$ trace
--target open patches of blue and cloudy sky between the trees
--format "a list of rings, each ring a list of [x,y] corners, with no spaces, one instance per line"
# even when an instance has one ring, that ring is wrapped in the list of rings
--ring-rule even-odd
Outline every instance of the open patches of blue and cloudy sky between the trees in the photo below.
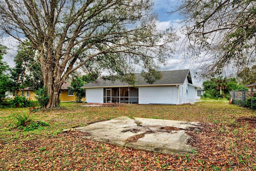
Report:
[[[153,12],[158,14],[158,22],[157,26],[160,29],[165,29],[170,26],[173,28],[178,28],[180,25],[178,22],[182,19],[182,16],[180,16],[178,13],[170,14],[170,12],[173,7],[177,6],[179,3],[181,3],[180,0],[153,0],[154,1],[154,8]],[[181,47],[182,38],[184,36],[178,35],[181,37],[181,39],[176,42],[176,50],[178,50]],[[8,62],[8,65],[11,67],[14,67],[14,56],[16,56],[17,51],[17,42],[9,39],[6,40],[2,38],[1,44],[4,44],[10,50],[8,51],[8,54],[4,56],[4,60]],[[195,65],[195,66],[194,66]],[[191,75],[192,75],[192,82],[194,85],[202,87],[202,81],[194,78],[196,69],[198,68],[197,64],[190,64],[188,61],[183,60],[180,54],[176,52],[174,54],[173,58],[170,58],[166,64],[166,66],[160,66],[160,70],[182,70],[182,69],[190,69]]]

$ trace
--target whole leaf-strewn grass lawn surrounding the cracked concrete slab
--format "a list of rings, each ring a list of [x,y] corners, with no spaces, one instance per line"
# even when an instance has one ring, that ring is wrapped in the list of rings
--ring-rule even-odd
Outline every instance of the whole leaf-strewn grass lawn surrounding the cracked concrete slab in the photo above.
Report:
[[[194,105],[124,105],[61,108],[29,112],[0,109],[0,170],[256,170],[256,113],[224,101]],[[17,116],[29,115],[48,126],[15,127]],[[62,129],[119,116],[212,123],[193,132],[197,151],[164,155],[116,147]]]

